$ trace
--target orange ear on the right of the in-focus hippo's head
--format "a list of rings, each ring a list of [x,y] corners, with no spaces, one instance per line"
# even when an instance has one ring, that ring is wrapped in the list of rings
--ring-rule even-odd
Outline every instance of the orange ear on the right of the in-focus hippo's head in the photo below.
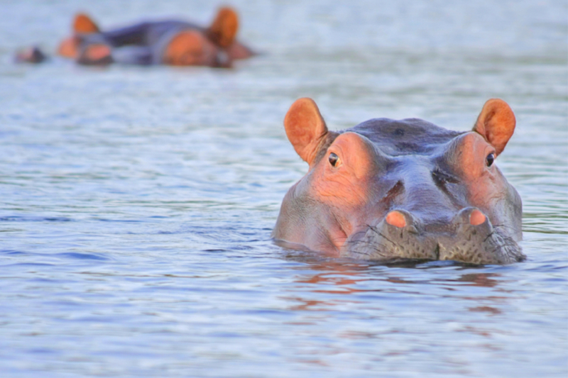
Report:
[[[515,114],[510,106],[501,99],[490,99],[481,109],[474,126],[474,131],[483,135],[497,155],[501,154],[515,131]]]

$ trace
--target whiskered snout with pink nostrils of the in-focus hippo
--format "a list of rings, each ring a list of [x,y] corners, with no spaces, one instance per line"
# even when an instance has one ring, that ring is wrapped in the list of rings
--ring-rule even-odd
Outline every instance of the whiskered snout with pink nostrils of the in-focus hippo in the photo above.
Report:
[[[447,223],[420,221],[402,209],[387,213],[376,226],[352,235],[344,254],[369,260],[455,260],[508,264],[524,260],[520,246],[491,225],[475,207],[461,209]]]

